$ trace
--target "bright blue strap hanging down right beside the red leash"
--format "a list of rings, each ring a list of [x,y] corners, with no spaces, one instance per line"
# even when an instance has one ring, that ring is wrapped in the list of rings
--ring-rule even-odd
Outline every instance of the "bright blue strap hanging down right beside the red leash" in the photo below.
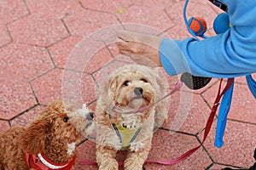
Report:
[[[218,148],[222,147],[224,144],[223,137],[224,131],[227,123],[227,116],[230,111],[230,105],[232,102],[232,94],[234,88],[234,81],[232,82],[230,88],[225,92],[223,99],[221,100],[221,104],[218,111],[218,122],[215,134],[215,146]]]

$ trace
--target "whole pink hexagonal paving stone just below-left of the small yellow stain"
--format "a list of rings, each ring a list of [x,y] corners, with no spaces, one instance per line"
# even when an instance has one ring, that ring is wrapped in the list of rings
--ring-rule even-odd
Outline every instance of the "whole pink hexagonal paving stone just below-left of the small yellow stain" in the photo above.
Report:
[[[73,36],[88,36],[104,27],[119,24],[113,14],[84,10],[64,19]]]

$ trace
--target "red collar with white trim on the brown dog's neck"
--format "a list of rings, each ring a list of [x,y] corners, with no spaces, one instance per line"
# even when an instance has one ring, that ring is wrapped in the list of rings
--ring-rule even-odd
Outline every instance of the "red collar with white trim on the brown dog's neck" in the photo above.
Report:
[[[73,167],[76,156],[74,155],[72,160],[66,163],[55,163],[49,161],[44,154],[29,155],[28,153],[25,153],[25,160],[27,167],[35,168],[37,170],[70,170]]]

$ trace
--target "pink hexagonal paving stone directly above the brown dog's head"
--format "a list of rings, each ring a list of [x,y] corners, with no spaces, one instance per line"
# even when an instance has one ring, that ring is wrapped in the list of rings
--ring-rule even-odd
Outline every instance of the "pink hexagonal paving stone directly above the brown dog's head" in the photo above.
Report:
[[[55,69],[32,81],[32,88],[42,105],[47,105],[55,99],[63,99],[80,107],[82,103],[76,102],[81,99],[84,99],[83,103],[96,99],[92,78],[76,71]]]

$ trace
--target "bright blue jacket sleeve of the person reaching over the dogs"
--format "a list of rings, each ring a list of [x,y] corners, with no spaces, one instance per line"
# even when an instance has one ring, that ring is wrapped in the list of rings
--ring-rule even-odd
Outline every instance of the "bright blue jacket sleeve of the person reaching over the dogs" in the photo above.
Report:
[[[256,72],[256,1],[223,0],[232,27],[205,40],[164,38],[160,60],[173,76],[190,72],[200,77],[239,77]]]

